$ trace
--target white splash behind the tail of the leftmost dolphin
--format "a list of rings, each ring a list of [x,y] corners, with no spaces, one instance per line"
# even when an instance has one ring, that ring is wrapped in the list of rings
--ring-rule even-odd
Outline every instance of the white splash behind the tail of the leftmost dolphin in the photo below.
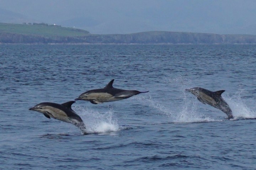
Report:
[[[106,133],[119,130],[117,120],[112,119],[111,110],[105,113],[99,113],[82,106],[75,106],[74,110],[84,121],[86,133]]]

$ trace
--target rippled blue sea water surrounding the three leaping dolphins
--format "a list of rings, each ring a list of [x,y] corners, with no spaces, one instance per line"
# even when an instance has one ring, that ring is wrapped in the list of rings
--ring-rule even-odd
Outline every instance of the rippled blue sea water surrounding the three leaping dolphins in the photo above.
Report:
[[[0,45],[0,169],[256,169],[256,45]],[[28,108],[104,87],[148,91],[74,111],[90,135]],[[191,87],[226,90],[233,111]]]

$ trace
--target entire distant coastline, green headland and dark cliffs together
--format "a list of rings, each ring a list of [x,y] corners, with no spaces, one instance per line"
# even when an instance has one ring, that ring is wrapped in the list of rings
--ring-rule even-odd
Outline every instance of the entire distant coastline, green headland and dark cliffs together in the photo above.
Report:
[[[152,31],[133,34],[90,34],[86,30],[45,23],[0,23],[0,43],[89,44],[256,44],[256,35],[220,35]]]

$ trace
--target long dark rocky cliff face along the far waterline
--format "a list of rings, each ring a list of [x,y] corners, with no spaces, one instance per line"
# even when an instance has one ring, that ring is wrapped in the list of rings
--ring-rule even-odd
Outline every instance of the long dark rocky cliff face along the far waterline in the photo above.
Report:
[[[185,32],[142,32],[133,34],[88,34],[44,36],[0,32],[0,43],[49,44],[256,44],[256,35],[220,35]]]

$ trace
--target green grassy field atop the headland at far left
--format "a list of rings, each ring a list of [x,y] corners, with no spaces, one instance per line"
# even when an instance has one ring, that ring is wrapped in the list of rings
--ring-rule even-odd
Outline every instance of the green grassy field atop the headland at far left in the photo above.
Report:
[[[0,23],[0,32],[41,35],[41,36],[86,36],[88,31],[76,28],[68,28],[47,24],[9,24]]]

